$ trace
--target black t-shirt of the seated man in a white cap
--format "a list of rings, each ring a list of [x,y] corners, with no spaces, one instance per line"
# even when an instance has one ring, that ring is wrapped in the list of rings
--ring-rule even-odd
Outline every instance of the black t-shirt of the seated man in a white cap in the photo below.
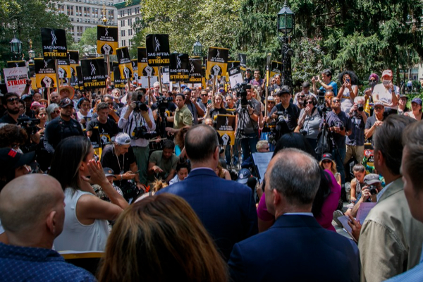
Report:
[[[116,157],[114,145],[107,145],[102,152],[102,166],[113,169],[114,174],[129,171],[130,164],[135,162],[135,155],[132,147],[129,147],[128,153]]]

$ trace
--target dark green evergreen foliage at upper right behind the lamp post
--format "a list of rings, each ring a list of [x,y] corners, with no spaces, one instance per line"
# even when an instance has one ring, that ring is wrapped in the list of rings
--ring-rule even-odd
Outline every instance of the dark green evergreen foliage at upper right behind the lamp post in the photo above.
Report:
[[[323,54],[321,68],[350,69],[362,79],[391,68],[397,72],[397,83],[399,68],[422,61],[421,0],[290,0],[287,4],[295,13],[292,47],[299,56],[293,59],[293,72],[302,72],[293,73],[294,80],[316,75],[306,74],[305,60]],[[276,14],[282,6],[282,1],[242,1],[233,51],[247,53],[250,66],[264,66],[267,52],[278,56]],[[304,56],[303,38],[315,40],[319,48]]]

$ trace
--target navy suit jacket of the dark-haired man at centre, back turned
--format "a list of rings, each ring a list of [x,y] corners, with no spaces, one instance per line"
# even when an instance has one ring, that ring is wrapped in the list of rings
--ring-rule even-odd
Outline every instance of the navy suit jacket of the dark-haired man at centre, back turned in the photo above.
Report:
[[[235,243],[258,232],[252,190],[219,178],[211,169],[195,169],[185,180],[156,194],[164,192],[183,197],[191,205],[226,260]]]

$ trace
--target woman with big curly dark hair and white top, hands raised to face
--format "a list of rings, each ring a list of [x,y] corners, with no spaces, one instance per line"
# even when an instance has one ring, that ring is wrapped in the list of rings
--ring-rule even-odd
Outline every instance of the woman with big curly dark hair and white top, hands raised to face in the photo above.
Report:
[[[358,78],[353,71],[343,71],[338,80],[342,84],[337,95],[341,99],[341,111],[348,113],[354,106],[354,99],[358,94]]]

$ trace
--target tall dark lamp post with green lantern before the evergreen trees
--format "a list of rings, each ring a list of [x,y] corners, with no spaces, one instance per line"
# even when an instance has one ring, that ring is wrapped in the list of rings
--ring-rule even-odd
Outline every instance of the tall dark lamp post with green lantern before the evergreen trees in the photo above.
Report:
[[[281,40],[281,55],[282,55],[282,85],[288,85],[291,93],[293,93],[293,76],[291,70],[291,56],[294,56],[293,49],[290,49],[290,40],[292,35],[288,35],[293,32],[295,27],[295,18],[294,13],[291,9],[285,4],[283,8],[278,12],[278,34],[281,32],[279,39]]]

